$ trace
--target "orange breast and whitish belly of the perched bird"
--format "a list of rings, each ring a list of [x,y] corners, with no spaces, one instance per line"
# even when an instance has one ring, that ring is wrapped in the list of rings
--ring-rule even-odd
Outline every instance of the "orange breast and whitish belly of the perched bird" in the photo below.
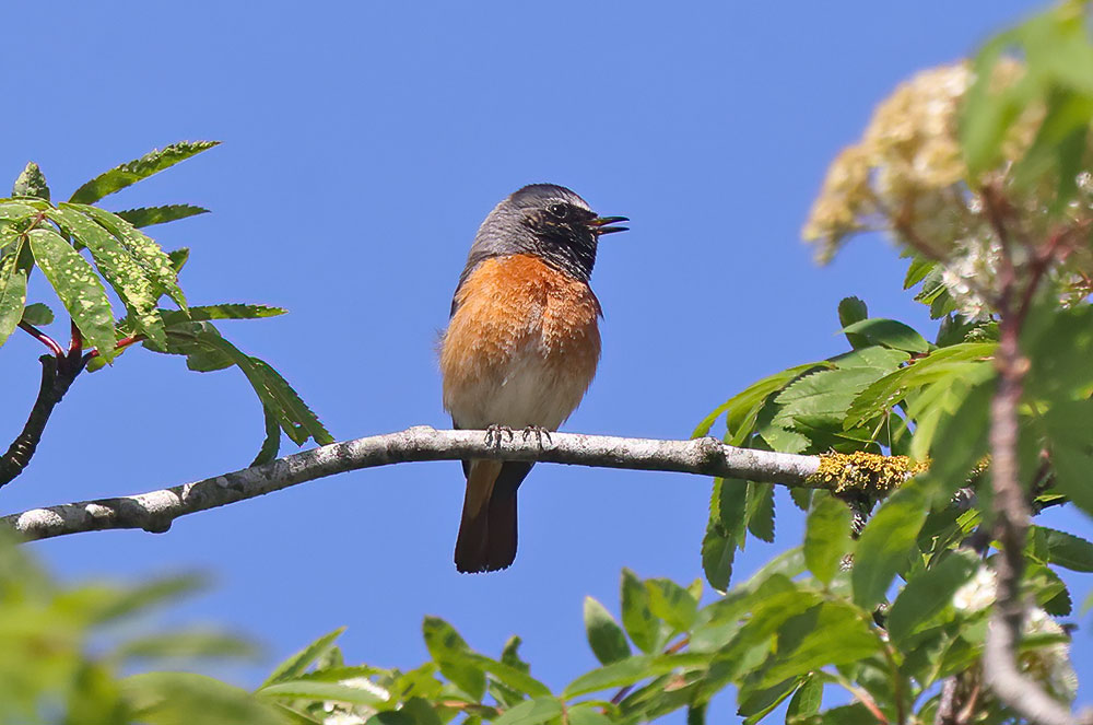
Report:
[[[588,284],[515,255],[480,264],[444,335],[444,407],[460,428],[556,429],[600,356],[600,305]]]

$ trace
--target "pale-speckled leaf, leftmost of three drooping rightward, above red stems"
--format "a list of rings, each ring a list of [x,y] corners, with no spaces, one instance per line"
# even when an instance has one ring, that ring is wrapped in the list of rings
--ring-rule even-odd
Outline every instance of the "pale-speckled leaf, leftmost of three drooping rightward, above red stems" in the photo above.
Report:
[[[31,250],[77,327],[107,362],[114,359],[114,313],[103,283],[75,249],[56,232],[31,230]]]

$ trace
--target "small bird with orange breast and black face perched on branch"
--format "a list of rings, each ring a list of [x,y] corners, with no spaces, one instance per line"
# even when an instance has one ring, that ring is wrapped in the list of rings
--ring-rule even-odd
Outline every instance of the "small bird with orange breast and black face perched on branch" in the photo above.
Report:
[[[439,346],[443,404],[454,428],[549,437],[573,413],[600,358],[600,302],[589,287],[599,238],[626,231],[574,191],[525,186],[474,236]],[[459,572],[516,559],[516,492],[533,463],[463,460]]]

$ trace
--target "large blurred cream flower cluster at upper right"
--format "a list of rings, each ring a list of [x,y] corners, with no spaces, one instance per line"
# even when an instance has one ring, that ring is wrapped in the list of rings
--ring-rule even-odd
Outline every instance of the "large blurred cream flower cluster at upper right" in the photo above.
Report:
[[[990,85],[1001,91],[1016,82],[1024,67],[1012,59],[992,69]],[[1025,262],[1060,227],[1071,226],[1066,264],[1057,264],[1048,280],[1063,304],[1093,291],[1093,173],[1077,174],[1077,197],[1063,213],[1055,208],[1058,185],[1049,174],[1030,184],[1015,183],[1013,169],[1031,148],[1044,119],[1044,105],[1026,106],[1001,143],[995,168],[971,178],[964,162],[960,126],[962,103],[975,81],[964,62],[916,74],[881,102],[861,139],[832,162],[804,225],[816,257],[827,261],[851,235],[886,231],[895,241],[929,259],[941,261],[943,283],[960,312],[984,318],[1000,297],[998,225],[1006,227],[1008,252],[1022,277]],[[1093,167],[1093,147],[1081,160]],[[998,195],[988,209],[980,189]],[[1081,238],[1079,238],[1081,237]]]

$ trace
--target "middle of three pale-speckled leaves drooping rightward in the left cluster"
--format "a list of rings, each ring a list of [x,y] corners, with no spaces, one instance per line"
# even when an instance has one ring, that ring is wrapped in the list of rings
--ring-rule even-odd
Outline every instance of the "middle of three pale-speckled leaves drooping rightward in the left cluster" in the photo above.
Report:
[[[148,336],[154,344],[166,347],[167,337],[155,308],[160,297],[155,280],[145,273],[129,250],[102,226],[71,208],[62,206],[47,210],[46,217],[87,247],[99,273],[129,309],[137,331]]]

